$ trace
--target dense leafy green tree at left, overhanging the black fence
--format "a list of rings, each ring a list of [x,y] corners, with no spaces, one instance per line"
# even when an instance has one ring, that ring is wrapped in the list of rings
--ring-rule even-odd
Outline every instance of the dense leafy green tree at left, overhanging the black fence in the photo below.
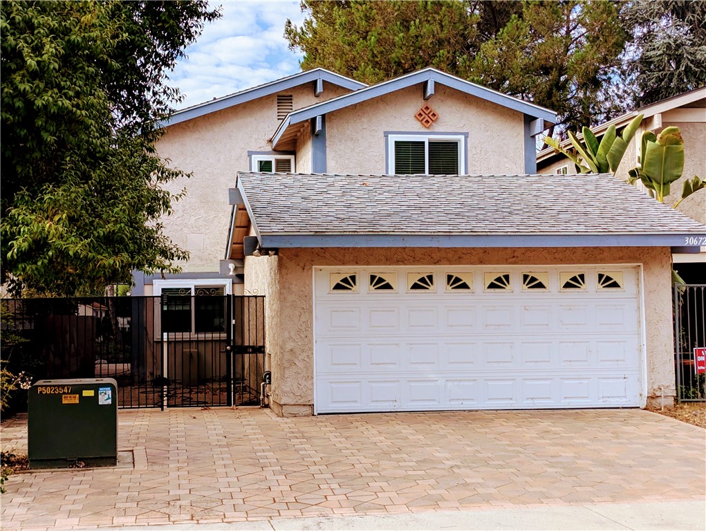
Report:
[[[75,294],[178,270],[158,222],[184,175],[157,156],[167,73],[218,15],[198,1],[0,4],[2,280]]]

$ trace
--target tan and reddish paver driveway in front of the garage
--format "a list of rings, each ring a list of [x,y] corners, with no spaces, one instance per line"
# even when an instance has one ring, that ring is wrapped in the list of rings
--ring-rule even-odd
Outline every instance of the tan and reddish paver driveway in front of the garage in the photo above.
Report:
[[[128,469],[13,475],[4,529],[702,499],[705,434],[642,410],[119,412]],[[4,449],[23,422],[3,424]],[[12,438],[16,438],[12,441]]]

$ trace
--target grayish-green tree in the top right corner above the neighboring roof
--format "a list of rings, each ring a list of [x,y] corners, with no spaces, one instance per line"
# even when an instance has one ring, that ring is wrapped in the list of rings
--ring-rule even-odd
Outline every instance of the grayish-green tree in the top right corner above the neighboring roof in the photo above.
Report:
[[[706,85],[706,1],[633,0],[622,17],[633,33],[635,100],[648,105]]]

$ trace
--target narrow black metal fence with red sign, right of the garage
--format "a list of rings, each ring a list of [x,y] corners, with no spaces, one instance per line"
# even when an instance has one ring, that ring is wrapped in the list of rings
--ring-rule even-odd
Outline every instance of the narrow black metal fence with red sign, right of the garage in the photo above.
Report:
[[[676,394],[680,402],[706,402],[706,284],[674,285]]]

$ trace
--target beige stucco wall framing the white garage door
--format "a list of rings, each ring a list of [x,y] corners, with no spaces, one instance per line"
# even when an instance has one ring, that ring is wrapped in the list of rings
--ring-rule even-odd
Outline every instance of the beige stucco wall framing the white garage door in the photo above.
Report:
[[[276,332],[268,326],[268,334],[276,334],[268,343],[268,352],[272,354],[273,410],[277,414],[313,412],[313,266],[642,263],[648,402],[661,398],[663,391],[668,402],[674,400],[669,248],[280,249],[277,260],[277,271],[270,269],[269,274],[275,274],[282,290],[274,306],[268,306],[275,312],[271,321],[279,323]]]

